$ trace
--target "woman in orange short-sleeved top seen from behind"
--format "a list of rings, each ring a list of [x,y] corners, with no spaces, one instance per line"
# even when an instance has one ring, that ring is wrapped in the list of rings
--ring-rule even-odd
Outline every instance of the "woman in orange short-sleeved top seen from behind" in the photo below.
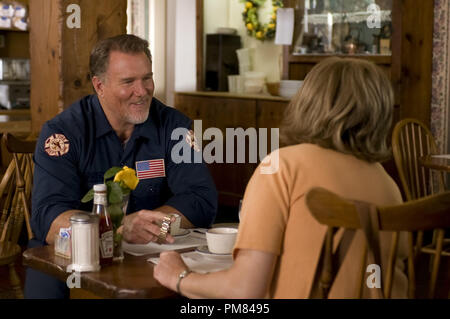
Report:
[[[372,63],[329,58],[315,66],[292,99],[282,127],[291,145],[279,149],[279,170],[251,178],[233,250],[225,271],[188,273],[176,252],[161,253],[154,277],[189,298],[308,298],[326,227],[310,214],[304,195],[320,186],[341,196],[393,205],[400,191],[380,161],[390,156],[393,92]],[[338,234],[339,236],[339,234]],[[383,234],[387,254],[390,234]],[[330,296],[355,297],[355,273],[363,234],[354,236]],[[404,255],[400,247],[399,258]],[[387,258],[387,256],[382,256]],[[407,280],[398,263],[393,297],[406,297]],[[364,292],[363,296],[368,296]]]

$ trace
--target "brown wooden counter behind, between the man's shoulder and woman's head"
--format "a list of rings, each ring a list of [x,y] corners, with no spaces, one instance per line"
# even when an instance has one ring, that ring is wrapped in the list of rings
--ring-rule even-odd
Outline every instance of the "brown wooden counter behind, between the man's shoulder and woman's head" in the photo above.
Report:
[[[270,136],[271,128],[279,128],[283,112],[289,100],[270,95],[235,94],[228,92],[177,92],[175,108],[189,116],[192,120],[201,120],[202,131],[214,127],[220,129],[224,137],[224,163],[208,164],[211,175],[219,192],[219,204],[237,207],[244,196],[245,187],[260,162],[249,163],[249,138],[246,137],[245,163],[237,163],[234,154],[233,163],[225,163],[225,136],[227,128],[267,128]],[[196,132],[197,138],[203,132]],[[236,140],[236,139],[235,139]],[[203,148],[209,143],[205,140]],[[270,152],[270,138],[267,150]],[[259,154],[259,137],[258,137]],[[236,144],[235,144],[236,150]],[[236,152],[235,152],[236,153]]]

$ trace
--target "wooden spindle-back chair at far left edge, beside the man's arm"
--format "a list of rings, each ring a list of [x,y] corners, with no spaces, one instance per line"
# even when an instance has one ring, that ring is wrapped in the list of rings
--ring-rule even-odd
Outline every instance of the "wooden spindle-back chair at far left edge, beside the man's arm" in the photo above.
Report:
[[[24,220],[28,239],[33,237],[29,207],[34,168],[32,154],[36,142],[22,141],[9,133],[2,140],[13,160],[0,181],[0,265],[9,266],[13,290],[18,298],[23,298],[14,263],[22,253],[17,243]]]

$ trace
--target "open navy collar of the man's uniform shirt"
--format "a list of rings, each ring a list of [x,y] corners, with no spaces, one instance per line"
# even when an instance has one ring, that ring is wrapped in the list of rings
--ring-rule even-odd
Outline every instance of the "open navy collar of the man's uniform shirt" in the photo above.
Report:
[[[150,104],[150,112],[148,115],[147,120],[142,124],[137,124],[134,126],[134,131],[132,136],[134,137],[145,137],[147,139],[150,139],[152,136],[155,136],[155,133],[158,131],[157,127],[155,125],[155,120],[157,121],[157,117],[155,114],[152,114],[152,110],[155,108],[152,108],[152,105],[156,102],[156,99],[153,98],[152,102]],[[93,97],[93,109],[95,114],[95,121],[96,121],[96,132],[95,137],[99,138],[109,132],[114,132],[111,124],[109,124],[108,119],[106,118],[105,112],[103,111],[103,108],[100,104],[100,101],[98,100],[97,95],[94,95]]]

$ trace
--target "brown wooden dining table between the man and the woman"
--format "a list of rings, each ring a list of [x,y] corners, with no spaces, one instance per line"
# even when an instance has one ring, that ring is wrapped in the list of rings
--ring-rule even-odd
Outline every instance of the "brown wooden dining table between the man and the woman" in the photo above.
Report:
[[[180,250],[189,251],[191,249]],[[154,265],[147,261],[159,254],[132,256],[127,253],[121,262],[102,267],[96,272],[79,273],[81,288],[70,289],[72,299],[82,298],[181,298],[174,291],[160,285],[153,278]],[[29,248],[23,253],[23,264],[66,282],[67,278],[74,285],[77,283],[75,273],[67,272],[70,259],[55,255],[54,246]]]

